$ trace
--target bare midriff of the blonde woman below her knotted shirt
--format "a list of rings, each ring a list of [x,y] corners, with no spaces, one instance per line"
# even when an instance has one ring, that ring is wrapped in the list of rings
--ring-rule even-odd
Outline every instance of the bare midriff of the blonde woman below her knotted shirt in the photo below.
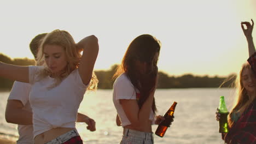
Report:
[[[70,130],[73,130],[75,128],[53,128],[51,130],[45,131],[42,134],[37,135],[34,137],[34,143],[35,144],[43,144],[46,142],[49,142],[53,139],[56,139],[56,137],[67,133]]]

